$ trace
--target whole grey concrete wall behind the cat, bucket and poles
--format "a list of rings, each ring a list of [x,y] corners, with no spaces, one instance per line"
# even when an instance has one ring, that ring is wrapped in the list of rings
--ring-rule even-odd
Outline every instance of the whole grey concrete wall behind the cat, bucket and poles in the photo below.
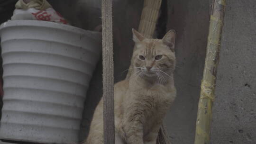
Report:
[[[143,0],[113,0],[115,82],[125,78]],[[197,104],[209,27],[209,1],[167,0],[166,30],[177,31],[175,85],[178,93],[165,118],[172,144],[193,144]],[[101,0],[49,0],[70,23],[93,30],[101,24]],[[227,0],[212,144],[256,144],[256,0]],[[6,15],[10,15],[10,12]],[[6,16],[5,15],[5,16]],[[2,18],[2,17],[1,17]],[[165,26],[160,25],[160,29]],[[100,60],[101,61],[101,60]],[[98,63],[87,94],[80,139],[88,133],[93,109],[102,96]]]

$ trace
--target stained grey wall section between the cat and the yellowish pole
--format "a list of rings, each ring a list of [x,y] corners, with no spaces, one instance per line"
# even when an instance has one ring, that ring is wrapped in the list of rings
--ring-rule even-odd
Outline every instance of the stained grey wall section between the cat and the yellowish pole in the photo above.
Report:
[[[168,29],[177,31],[177,98],[165,119],[172,144],[193,144],[209,28],[208,0],[168,0]]]

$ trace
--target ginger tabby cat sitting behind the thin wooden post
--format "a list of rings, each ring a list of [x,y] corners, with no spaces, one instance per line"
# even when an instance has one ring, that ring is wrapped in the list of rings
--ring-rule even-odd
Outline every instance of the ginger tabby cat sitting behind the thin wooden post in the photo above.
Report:
[[[156,144],[166,112],[176,97],[175,31],[148,39],[132,30],[131,75],[114,85],[116,144]],[[103,144],[103,101],[95,109],[84,144]]]

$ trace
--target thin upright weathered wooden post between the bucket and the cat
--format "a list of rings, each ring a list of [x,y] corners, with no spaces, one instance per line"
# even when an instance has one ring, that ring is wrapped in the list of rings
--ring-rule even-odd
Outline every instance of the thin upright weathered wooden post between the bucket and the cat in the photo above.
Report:
[[[115,144],[112,0],[102,0],[104,144]]]

